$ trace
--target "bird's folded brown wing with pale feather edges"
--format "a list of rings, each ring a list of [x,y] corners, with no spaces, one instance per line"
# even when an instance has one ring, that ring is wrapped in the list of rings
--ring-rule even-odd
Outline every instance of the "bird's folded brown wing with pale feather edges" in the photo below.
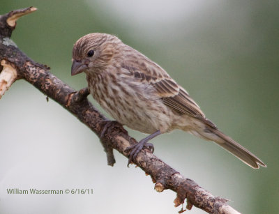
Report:
[[[131,75],[139,79],[140,82],[151,84],[155,89],[158,97],[160,97],[164,104],[170,109],[178,112],[179,114],[188,114],[193,116],[212,128],[216,128],[211,121],[206,119],[204,113],[199,108],[197,103],[190,98],[187,91],[185,91],[179,84],[176,84],[174,79],[169,77],[167,72],[158,66],[153,61],[145,58],[146,63],[139,64],[131,63],[128,61],[123,63],[122,68],[128,70]]]

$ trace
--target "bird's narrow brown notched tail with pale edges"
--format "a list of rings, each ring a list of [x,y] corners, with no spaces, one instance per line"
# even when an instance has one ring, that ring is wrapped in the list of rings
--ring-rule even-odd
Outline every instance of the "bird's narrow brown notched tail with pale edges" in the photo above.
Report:
[[[207,125],[206,125],[207,126]],[[190,131],[192,132],[192,131]],[[236,143],[232,138],[220,132],[217,128],[211,128],[209,126],[206,127],[205,130],[201,132],[194,131],[193,135],[197,135],[198,137],[202,137],[204,139],[216,142],[219,146],[225,148],[229,153],[232,153],[239,158],[239,160],[246,163],[246,165],[259,169],[259,166],[266,167],[262,160],[256,157],[256,155],[250,153],[246,148]]]

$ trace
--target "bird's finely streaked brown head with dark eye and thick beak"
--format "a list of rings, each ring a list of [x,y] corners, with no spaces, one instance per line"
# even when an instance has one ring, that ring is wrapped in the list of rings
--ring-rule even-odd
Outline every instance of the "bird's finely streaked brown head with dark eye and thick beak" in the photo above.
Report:
[[[73,47],[72,76],[105,69],[119,44],[119,38],[106,33],[90,33],[77,40]]]

